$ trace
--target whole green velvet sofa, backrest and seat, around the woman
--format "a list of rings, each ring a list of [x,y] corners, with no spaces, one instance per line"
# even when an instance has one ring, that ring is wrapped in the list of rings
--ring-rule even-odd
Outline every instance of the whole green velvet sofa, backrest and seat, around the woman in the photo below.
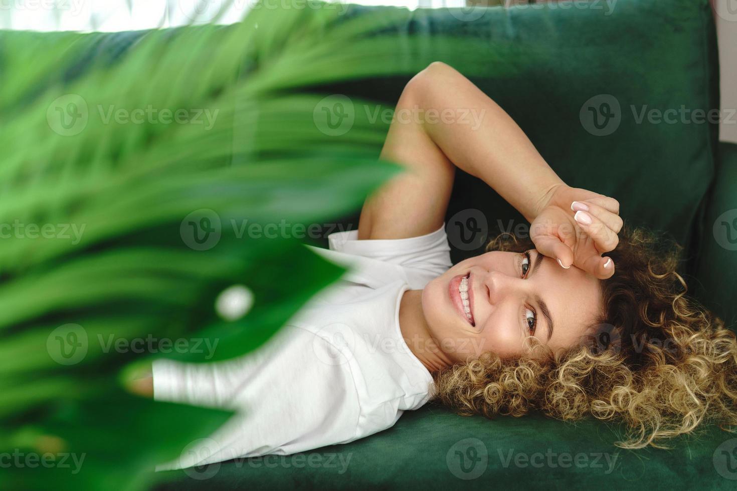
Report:
[[[691,293],[734,327],[737,145],[718,141],[719,64],[708,0],[414,11],[352,5],[343,18],[380,10],[388,22],[375,35],[402,40],[391,60],[396,73],[315,91],[393,107],[417,66],[449,63],[509,112],[567,183],[616,197],[626,222],[683,244]],[[114,63],[146,34],[93,35],[88,59],[65,77],[96,57]],[[728,111],[721,116],[735,119]],[[357,215],[343,222],[356,225]],[[494,191],[459,174],[447,215],[454,261],[524,224]],[[675,439],[668,450],[626,451],[614,445],[621,435],[618,425],[596,420],[486,420],[430,403],[348,445],[178,471],[160,489],[737,487],[737,439],[716,426]]]

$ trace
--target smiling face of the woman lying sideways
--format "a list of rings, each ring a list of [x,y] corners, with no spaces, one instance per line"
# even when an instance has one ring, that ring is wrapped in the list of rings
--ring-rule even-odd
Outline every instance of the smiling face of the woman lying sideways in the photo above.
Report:
[[[529,355],[528,336],[556,351],[578,345],[595,322],[603,308],[600,281],[534,249],[486,252],[428,283],[422,310],[430,335],[454,362],[484,351]]]

